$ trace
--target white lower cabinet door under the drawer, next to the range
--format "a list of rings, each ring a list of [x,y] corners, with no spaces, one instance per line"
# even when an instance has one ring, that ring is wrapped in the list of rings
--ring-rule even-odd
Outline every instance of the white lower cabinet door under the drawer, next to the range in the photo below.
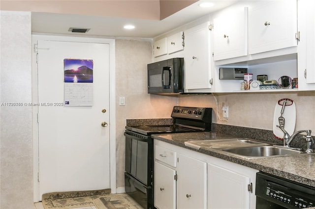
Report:
[[[176,171],[154,163],[154,205],[158,209],[176,208]]]

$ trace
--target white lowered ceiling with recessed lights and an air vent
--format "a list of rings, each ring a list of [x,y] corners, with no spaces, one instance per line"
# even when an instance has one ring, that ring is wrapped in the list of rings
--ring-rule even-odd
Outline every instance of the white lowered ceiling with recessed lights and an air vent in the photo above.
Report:
[[[154,38],[174,28],[229,6],[235,3],[236,0],[211,0],[211,2],[214,2],[215,6],[211,8],[201,8],[198,6],[198,4],[200,4],[199,1],[163,20],[32,12],[32,32],[81,34],[68,31],[70,27],[78,27],[91,28],[85,33],[85,35],[89,36]],[[135,29],[124,29],[123,26],[126,24],[134,25]]]

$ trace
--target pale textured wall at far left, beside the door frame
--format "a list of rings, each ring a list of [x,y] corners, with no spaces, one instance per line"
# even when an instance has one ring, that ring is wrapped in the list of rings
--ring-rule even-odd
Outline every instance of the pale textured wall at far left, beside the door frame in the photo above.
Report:
[[[32,102],[31,13],[1,11],[1,104]],[[32,107],[0,106],[0,208],[32,209]]]

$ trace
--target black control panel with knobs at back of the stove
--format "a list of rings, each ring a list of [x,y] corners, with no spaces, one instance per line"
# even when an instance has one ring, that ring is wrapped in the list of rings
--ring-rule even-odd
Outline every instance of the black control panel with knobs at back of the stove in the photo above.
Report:
[[[172,118],[193,119],[199,121],[211,121],[212,108],[174,106]]]

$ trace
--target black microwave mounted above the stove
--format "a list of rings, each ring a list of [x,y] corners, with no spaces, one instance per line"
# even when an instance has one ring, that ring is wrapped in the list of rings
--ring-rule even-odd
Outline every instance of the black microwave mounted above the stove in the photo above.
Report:
[[[184,58],[148,64],[148,93],[184,93]]]

